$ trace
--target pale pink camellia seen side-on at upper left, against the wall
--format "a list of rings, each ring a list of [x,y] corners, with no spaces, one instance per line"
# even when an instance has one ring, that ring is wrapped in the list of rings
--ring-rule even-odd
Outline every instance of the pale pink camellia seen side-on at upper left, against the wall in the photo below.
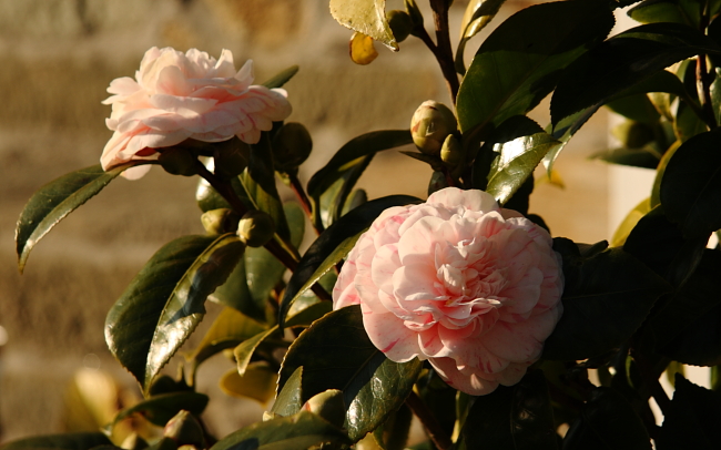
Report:
[[[132,160],[153,160],[155,149],[186,139],[221,142],[233,136],[256,143],[261,131],[291,114],[287,93],[282,89],[252,85],[252,61],[235,71],[233,53],[215,60],[191,49],[185,53],[153,47],[145,52],[135,80],[113,80],[103,101],[113,110],[105,123],[115,133],[100,162],[104,170]],[[124,173],[144,175],[149,165]]]

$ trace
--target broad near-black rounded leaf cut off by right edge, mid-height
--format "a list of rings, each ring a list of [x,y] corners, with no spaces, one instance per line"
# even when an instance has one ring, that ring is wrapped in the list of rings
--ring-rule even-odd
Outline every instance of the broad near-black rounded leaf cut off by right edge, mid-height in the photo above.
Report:
[[[661,204],[687,236],[721,228],[721,131],[699,134],[673,154],[661,180]]]

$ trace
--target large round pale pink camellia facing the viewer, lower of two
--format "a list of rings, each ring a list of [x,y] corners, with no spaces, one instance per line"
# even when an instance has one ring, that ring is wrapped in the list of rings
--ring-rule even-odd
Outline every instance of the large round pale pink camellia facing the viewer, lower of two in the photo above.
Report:
[[[334,308],[360,304],[389,359],[428,359],[451,387],[486,395],[520,381],[561,316],[551,245],[490,194],[447,187],[373,223],[341,270]]]

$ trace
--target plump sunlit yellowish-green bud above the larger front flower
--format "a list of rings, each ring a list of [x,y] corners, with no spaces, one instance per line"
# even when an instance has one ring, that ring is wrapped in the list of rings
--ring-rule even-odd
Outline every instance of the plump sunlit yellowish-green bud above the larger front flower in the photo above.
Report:
[[[446,136],[456,132],[458,122],[453,111],[443,103],[423,102],[410,120],[410,134],[418,150],[429,155],[440,152]]]

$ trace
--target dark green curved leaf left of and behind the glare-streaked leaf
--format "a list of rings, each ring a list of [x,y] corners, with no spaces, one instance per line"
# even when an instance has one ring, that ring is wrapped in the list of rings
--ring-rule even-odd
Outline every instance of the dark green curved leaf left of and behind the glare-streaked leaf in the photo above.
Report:
[[[105,319],[105,341],[142,385],[155,328],[180,280],[215,236],[184,236],[158,250],[115,301]]]

